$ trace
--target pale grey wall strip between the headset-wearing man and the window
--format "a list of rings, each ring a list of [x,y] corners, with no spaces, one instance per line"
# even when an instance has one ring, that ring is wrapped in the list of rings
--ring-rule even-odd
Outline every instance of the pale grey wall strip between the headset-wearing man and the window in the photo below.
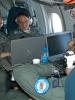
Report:
[[[41,5],[39,3],[33,2],[33,1],[32,1],[32,4],[30,4],[30,5],[32,7],[32,10],[35,12],[36,24],[37,24],[37,28],[38,28],[40,34],[45,34],[46,27],[45,27],[44,15],[42,12]]]

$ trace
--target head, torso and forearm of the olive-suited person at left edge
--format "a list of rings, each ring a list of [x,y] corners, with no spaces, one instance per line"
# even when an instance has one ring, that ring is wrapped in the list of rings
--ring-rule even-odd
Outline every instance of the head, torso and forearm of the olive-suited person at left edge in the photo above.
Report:
[[[0,16],[0,57],[10,55],[10,41],[8,40],[6,34],[1,30],[3,27],[3,18]]]

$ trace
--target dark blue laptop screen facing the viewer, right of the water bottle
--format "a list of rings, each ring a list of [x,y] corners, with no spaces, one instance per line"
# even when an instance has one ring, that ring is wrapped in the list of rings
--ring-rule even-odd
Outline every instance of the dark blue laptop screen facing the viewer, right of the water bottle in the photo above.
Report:
[[[57,60],[63,57],[68,50],[68,42],[73,38],[71,32],[61,32],[47,36],[48,54],[50,60]]]

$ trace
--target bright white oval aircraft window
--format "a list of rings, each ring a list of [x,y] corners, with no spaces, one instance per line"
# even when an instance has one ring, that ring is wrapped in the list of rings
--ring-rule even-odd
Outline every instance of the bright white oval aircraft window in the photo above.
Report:
[[[60,16],[57,13],[52,13],[49,19],[49,29],[50,32],[62,32],[62,21]]]

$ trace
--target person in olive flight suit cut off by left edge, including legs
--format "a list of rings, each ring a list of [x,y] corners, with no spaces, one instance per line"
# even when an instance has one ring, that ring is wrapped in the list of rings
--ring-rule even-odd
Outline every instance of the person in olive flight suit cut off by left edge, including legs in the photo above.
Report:
[[[3,19],[0,16],[0,29],[3,26]],[[0,100],[29,100],[29,97],[20,90],[10,89],[10,79],[8,77],[8,65],[11,67],[11,64],[8,61],[8,57],[11,56],[10,42],[6,35],[0,30]],[[5,48],[6,46],[6,48]],[[6,66],[6,68],[4,68]],[[6,70],[5,70],[6,69]],[[4,98],[4,99],[3,99]]]

